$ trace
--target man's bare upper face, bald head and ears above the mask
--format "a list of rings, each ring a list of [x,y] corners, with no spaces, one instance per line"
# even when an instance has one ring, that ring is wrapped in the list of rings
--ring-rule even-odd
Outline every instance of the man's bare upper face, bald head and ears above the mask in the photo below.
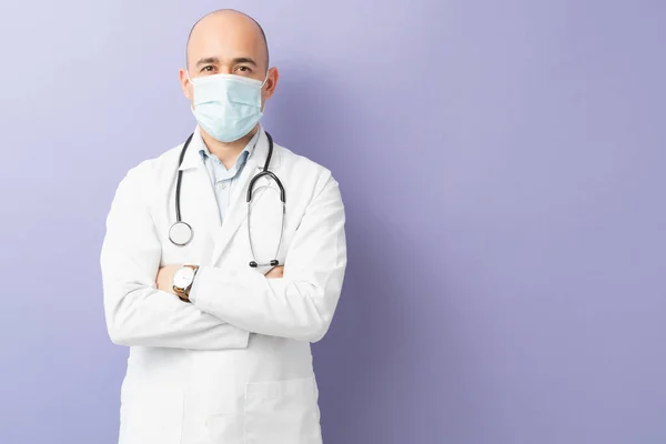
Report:
[[[202,19],[190,37],[188,67],[190,79],[215,74],[233,74],[259,81],[266,79],[266,53],[256,24],[232,12]],[[271,68],[262,88],[262,110],[278,85],[278,70]],[[192,83],[185,69],[180,70],[184,95],[193,107]]]

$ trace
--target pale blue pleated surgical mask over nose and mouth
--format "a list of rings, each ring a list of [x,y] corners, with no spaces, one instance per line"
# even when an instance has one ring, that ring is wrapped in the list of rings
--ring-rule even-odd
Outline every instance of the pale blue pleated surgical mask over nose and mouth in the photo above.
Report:
[[[235,74],[213,74],[190,79],[192,113],[205,132],[220,142],[233,142],[256,125],[261,111],[263,82]]]

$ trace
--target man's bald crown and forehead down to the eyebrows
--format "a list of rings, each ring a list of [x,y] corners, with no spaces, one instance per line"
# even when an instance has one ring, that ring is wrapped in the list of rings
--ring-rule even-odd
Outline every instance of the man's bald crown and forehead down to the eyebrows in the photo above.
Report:
[[[199,19],[188,37],[185,65],[193,70],[200,60],[219,58],[221,51],[240,58],[250,56],[258,69],[269,69],[266,34],[256,20],[243,12],[220,9]]]

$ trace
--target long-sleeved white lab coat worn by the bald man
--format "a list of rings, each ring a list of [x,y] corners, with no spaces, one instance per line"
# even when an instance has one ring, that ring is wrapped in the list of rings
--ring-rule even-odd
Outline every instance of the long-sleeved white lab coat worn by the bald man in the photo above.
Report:
[[[275,144],[271,171],[286,191],[284,276],[251,269],[245,193],[268,154],[260,131],[222,225],[194,142],[188,149],[181,213],[194,236],[185,246],[168,239],[182,144],[131,169],[118,186],[100,261],[109,335],[130,346],[120,444],[322,442],[310,343],[326,333],[340,297],[344,208],[329,170]],[[279,194],[268,179],[255,190],[252,241],[258,260],[270,260]],[[201,266],[194,304],[157,290],[159,268],[174,263]]]

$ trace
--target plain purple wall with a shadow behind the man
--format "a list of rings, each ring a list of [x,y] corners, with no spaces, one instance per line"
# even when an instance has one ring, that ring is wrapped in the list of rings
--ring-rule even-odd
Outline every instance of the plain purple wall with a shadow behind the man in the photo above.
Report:
[[[347,208],[326,444],[666,442],[663,1],[67,0],[0,3],[0,443],[115,443],[103,224],[220,7]]]

